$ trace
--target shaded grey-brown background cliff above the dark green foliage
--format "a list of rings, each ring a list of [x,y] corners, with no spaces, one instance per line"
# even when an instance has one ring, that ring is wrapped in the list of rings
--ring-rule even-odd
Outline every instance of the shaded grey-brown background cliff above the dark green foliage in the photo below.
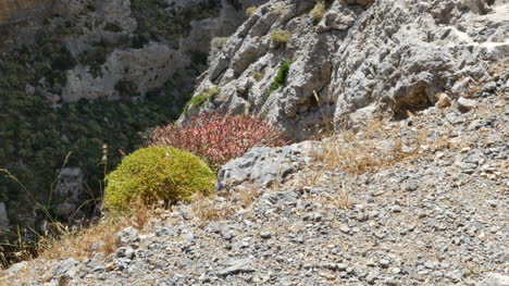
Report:
[[[55,103],[115,99],[119,82],[134,84],[141,97],[170,79],[190,90],[206,70],[211,39],[234,33],[246,20],[248,7],[266,1],[3,0],[0,32],[5,35],[0,41],[5,47],[30,47],[40,45],[36,39],[41,30],[59,35],[51,41],[55,47],[64,42],[70,53],[65,57],[71,66],[62,71],[65,80],[55,88],[47,84],[51,78],[40,78],[40,86],[35,87],[59,96]],[[45,13],[38,14],[39,10]]]

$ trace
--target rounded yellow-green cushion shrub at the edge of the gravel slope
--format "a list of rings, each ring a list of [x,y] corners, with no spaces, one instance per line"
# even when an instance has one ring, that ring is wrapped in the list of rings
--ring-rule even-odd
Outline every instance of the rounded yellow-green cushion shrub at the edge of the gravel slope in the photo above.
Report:
[[[172,147],[138,149],[107,176],[104,207],[126,210],[138,197],[150,204],[189,201],[214,189],[214,172],[198,157]]]

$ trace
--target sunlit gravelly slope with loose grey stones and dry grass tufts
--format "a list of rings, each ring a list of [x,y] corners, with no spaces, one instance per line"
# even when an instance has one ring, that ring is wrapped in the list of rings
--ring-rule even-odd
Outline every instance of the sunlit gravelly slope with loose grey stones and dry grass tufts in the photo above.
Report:
[[[252,149],[216,196],[124,229],[114,253],[23,262],[1,282],[509,285],[509,78],[492,79],[355,135]]]

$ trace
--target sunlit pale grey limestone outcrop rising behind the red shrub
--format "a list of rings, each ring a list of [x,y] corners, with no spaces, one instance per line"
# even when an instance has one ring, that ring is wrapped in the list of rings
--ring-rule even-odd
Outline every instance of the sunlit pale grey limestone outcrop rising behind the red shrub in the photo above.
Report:
[[[371,107],[394,114],[456,99],[509,58],[504,1],[270,1],[215,52],[195,94],[221,90],[203,111],[251,112],[295,139]],[[290,37],[274,37],[281,30]],[[291,62],[274,86],[282,62]],[[277,88],[274,88],[277,87]],[[271,91],[272,90],[272,91]],[[187,120],[182,116],[181,122]]]

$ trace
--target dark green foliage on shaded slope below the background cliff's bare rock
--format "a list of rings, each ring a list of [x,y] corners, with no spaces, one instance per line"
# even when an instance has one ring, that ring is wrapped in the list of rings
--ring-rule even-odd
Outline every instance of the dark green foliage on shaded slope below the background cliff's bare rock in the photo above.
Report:
[[[142,144],[144,130],[175,120],[185,102],[172,96],[169,84],[145,100],[128,95],[121,101],[82,100],[55,108],[42,90],[24,92],[27,84],[38,79],[35,65],[29,59],[0,61],[0,167],[9,169],[39,201],[47,198],[70,152],[67,165],[82,166],[89,187],[98,191],[104,175],[99,165],[102,145],[108,145],[110,170],[121,152]],[[0,200],[23,196],[17,184],[0,175]]]

